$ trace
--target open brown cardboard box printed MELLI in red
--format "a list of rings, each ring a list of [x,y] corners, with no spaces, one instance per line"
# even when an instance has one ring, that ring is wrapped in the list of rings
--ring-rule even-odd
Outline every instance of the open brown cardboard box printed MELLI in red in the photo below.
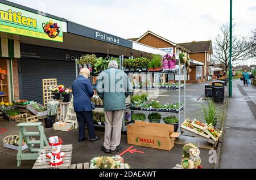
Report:
[[[174,132],[173,125],[135,121],[127,125],[127,135],[128,144],[170,151],[179,132]]]

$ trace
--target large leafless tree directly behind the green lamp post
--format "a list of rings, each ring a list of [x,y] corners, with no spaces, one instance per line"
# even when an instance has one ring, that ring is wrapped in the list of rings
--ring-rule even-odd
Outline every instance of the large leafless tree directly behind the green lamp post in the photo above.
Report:
[[[234,28],[234,25],[233,25]],[[224,65],[225,71],[229,67],[229,25],[223,24],[221,33],[215,38],[213,59]],[[232,64],[236,65],[251,58],[251,45],[246,37],[232,36]]]

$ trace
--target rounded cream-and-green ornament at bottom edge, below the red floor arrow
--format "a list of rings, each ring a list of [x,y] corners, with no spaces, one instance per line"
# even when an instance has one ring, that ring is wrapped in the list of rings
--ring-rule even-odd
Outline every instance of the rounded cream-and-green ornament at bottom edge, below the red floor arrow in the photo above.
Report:
[[[101,156],[94,157],[90,160],[90,169],[130,169],[125,160],[119,155],[117,156]]]

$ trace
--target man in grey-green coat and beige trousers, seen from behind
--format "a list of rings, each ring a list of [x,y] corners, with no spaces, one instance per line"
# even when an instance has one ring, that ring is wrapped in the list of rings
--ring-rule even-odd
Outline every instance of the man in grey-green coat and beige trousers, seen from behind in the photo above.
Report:
[[[97,81],[97,94],[104,100],[105,136],[101,150],[117,153],[122,147],[121,140],[125,100],[133,91],[125,72],[118,70],[117,61],[110,61],[108,70],[101,72]]]

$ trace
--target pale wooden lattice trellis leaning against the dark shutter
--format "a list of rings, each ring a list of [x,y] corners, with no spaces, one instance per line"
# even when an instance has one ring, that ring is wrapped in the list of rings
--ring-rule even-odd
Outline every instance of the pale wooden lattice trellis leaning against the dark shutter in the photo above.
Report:
[[[46,106],[47,101],[53,99],[53,95],[51,91],[49,91],[49,87],[57,85],[57,79],[43,79],[43,101],[44,106]]]

